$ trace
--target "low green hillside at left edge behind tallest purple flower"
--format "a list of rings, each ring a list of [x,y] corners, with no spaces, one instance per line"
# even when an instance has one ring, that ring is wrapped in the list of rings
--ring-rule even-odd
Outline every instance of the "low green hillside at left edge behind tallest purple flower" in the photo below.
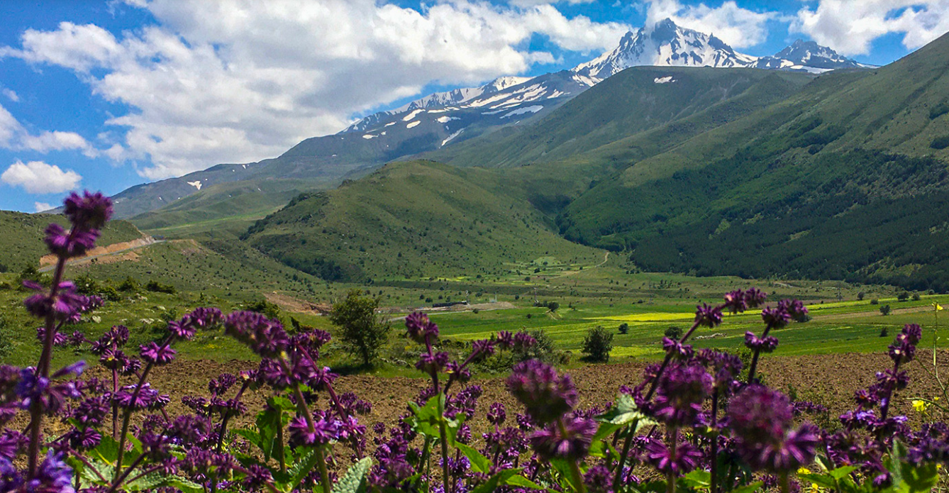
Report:
[[[20,272],[27,265],[38,266],[47,255],[43,231],[50,222],[66,225],[65,217],[52,214],[24,214],[0,211],[0,273]],[[98,244],[108,245],[141,237],[132,223],[114,220],[102,230]]]

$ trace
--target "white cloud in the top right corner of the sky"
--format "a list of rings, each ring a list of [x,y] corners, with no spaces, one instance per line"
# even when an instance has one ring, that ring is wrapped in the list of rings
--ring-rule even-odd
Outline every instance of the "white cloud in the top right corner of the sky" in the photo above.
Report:
[[[914,49],[949,31],[949,0],[820,0],[797,12],[791,30],[845,55],[870,51],[873,40],[902,33]]]

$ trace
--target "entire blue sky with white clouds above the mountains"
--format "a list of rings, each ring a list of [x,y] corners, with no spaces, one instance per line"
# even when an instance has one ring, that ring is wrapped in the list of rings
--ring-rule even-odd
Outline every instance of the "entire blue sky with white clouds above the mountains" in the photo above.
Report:
[[[576,66],[664,17],[769,55],[797,38],[885,65],[945,2],[0,2],[0,209],[274,157],[420,95]]]

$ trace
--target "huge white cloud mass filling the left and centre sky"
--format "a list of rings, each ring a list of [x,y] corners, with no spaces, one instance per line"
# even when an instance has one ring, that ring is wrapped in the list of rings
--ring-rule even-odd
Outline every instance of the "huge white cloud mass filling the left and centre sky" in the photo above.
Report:
[[[569,50],[612,48],[628,26],[549,5],[455,0],[420,10],[376,0],[153,0],[158,26],[116,38],[63,23],[28,30],[0,56],[73,69],[132,111],[124,152],[150,179],[217,162],[270,158],[432,83],[475,85],[554,61],[536,33]],[[111,142],[110,142],[111,143]]]

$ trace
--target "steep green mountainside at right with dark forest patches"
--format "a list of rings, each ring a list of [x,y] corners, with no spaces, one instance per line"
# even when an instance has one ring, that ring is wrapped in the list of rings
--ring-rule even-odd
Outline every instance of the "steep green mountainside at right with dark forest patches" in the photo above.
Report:
[[[943,37],[821,76],[592,187],[561,231],[646,269],[949,289],[947,70]]]

